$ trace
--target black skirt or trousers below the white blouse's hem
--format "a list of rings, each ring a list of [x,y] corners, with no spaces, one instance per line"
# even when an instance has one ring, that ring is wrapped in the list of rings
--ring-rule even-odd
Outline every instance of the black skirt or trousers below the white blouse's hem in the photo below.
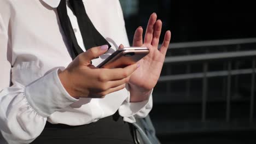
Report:
[[[124,143],[133,142],[132,125],[123,121],[116,114],[102,118],[95,123],[69,126],[65,124],[46,123],[45,128],[33,144],[90,144],[90,143]]]

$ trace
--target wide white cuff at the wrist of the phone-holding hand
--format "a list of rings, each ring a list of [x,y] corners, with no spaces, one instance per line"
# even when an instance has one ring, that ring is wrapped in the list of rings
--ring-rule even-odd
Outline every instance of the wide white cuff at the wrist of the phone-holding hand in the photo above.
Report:
[[[48,117],[78,99],[71,97],[58,76],[59,69],[51,71],[25,88],[25,97],[31,107],[41,116]]]

